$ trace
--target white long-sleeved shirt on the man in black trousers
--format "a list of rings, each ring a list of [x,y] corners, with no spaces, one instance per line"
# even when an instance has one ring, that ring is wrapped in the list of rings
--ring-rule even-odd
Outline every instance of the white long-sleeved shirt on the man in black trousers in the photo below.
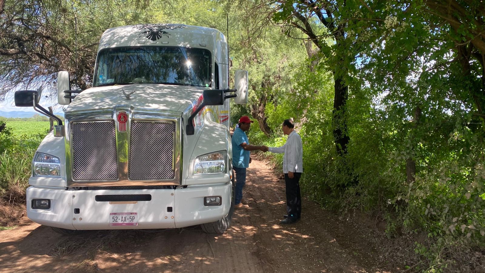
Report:
[[[303,172],[303,145],[302,138],[292,131],[281,147],[269,147],[271,153],[285,153],[283,155],[283,173]]]

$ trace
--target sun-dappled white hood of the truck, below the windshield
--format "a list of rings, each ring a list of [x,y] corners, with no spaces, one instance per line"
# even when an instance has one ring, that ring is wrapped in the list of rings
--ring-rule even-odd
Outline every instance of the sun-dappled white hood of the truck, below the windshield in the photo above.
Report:
[[[202,96],[204,87],[185,85],[133,84],[93,87],[82,91],[69,104],[66,114],[73,111],[110,109],[116,105],[135,108],[185,112],[192,109]],[[133,92],[130,99],[126,94]],[[189,108],[190,106],[190,108]]]

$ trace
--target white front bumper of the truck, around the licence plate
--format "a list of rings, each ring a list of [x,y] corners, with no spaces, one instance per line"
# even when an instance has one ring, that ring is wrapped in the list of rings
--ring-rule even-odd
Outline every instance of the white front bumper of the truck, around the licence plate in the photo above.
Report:
[[[231,182],[177,189],[68,190],[27,188],[27,216],[33,222],[66,229],[179,228],[217,221],[231,205]],[[149,195],[149,201],[103,201],[107,195]],[[99,197],[101,196],[101,198]],[[204,197],[220,196],[221,205],[204,204]],[[49,209],[32,208],[33,199],[49,199]],[[98,201],[97,201],[98,200]],[[136,213],[136,225],[110,225],[114,213]]]

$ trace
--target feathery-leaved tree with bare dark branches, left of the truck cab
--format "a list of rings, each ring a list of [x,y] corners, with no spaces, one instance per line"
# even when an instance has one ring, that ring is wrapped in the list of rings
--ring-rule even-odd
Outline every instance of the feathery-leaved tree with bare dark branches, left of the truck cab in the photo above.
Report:
[[[86,89],[102,32],[151,18],[141,0],[2,0],[0,6],[0,99],[16,86],[45,85],[53,94],[60,70]]]

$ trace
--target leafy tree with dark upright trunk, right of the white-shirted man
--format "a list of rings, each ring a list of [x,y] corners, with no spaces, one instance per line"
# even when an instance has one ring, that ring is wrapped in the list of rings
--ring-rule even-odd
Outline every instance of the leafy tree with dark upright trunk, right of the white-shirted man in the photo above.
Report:
[[[284,1],[271,4],[274,19],[285,29],[304,33],[327,58],[326,65],[334,77],[332,130],[338,154],[347,154],[347,100],[349,86],[356,72],[357,54],[379,32],[385,1],[374,1],[372,7],[363,1]],[[287,34],[291,32],[287,31]],[[331,42],[328,42],[331,38]],[[354,86],[354,92],[358,87]]]

